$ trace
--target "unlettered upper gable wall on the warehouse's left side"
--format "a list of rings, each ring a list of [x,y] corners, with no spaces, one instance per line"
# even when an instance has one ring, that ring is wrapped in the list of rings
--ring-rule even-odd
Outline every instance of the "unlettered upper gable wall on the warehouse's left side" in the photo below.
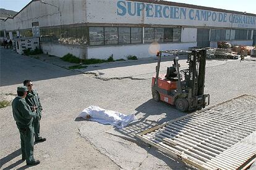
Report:
[[[8,19],[5,22],[6,30],[32,29],[32,22],[39,22],[40,27],[86,23],[85,0],[44,0],[44,2],[47,4],[33,1],[14,19]]]

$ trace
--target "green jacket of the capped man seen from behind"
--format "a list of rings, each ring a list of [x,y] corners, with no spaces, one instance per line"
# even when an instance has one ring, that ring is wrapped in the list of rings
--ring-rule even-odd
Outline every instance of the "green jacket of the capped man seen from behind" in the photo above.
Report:
[[[15,97],[12,101],[12,113],[14,116],[14,120],[19,127],[27,127],[35,116],[35,112],[32,112],[30,106],[27,104],[25,99],[22,97]]]

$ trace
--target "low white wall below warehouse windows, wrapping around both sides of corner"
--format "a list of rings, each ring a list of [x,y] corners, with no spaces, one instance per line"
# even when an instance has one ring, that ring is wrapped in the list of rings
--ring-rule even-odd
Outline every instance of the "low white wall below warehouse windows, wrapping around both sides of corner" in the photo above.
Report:
[[[63,57],[68,53],[73,54],[80,59],[108,59],[113,54],[114,59],[126,59],[127,55],[136,55],[139,58],[155,56],[155,53],[150,53],[149,49],[157,50],[171,50],[183,49],[187,50],[189,47],[194,47],[197,42],[187,43],[164,43],[164,44],[134,44],[126,46],[70,46],[64,44],[48,44],[41,42],[41,49],[45,54]],[[88,55],[87,55],[88,54]]]

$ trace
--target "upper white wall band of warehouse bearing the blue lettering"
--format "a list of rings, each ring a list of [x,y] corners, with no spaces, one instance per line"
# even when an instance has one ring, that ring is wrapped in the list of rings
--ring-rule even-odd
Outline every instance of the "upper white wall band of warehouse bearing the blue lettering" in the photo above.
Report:
[[[153,1],[152,1],[153,2]],[[132,9],[129,14],[128,6]],[[149,5],[149,6],[147,6]],[[144,7],[143,7],[144,6]],[[146,9],[146,7],[148,7]],[[130,23],[130,24],[154,24],[154,25],[183,25],[183,26],[218,26],[226,28],[256,28],[255,17],[251,18],[254,24],[244,24],[229,22],[229,17],[232,19],[233,14],[225,12],[216,12],[211,10],[191,9],[187,7],[177,7],[177,18],[171,18],[170,15],[164,17],[163,14],[169,14],[170,8],[174,6],[159,5],[154,3],[142,3],[134,1],[122,0],[87,0],[87,22],[88,23]],[[186,10],[186,14],[182,14],[182,10]],[[140,10],[142,9],[142,10]],[[161,11],[158,14],[158,9]],[[97,11],[97,12],[95,12]],[[165,13],[164,13],[165,12]],[[198,14],[197,14],[198,12]],[[208,12],[208,13],[207,13]],[[175,12],[174,12],[175,13]],[[173,14],[174,14],[173,13]],[[202,15],[209,14],[210,17],[198,18]],[[154,15],[154,14],[157,14]],[[153,17],[150,17],[153,15]],[[181,16],[179,18],[179,16]],[[198,17],[197,17],[198,16]],[[214,16],[214,17],[213,17]],[[225,20],[222,20],[223,16]],[[243,21],[246,15],[237,15]]]

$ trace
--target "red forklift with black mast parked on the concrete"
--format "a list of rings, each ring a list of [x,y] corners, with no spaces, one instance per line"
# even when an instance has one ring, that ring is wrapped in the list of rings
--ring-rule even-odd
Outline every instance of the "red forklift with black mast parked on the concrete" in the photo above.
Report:
[[[175,56],[173,66],[167,68],[166,75],[160,75],[162,54]],[[179,70],[179,55],[187,55],[189,69]],[[153,100],[175,105],[179,111],[195,111],[210,103],[210,95],[203,94],[205,87],[206,49],[192,51],[159,51],[156,76],[152,78]]]

